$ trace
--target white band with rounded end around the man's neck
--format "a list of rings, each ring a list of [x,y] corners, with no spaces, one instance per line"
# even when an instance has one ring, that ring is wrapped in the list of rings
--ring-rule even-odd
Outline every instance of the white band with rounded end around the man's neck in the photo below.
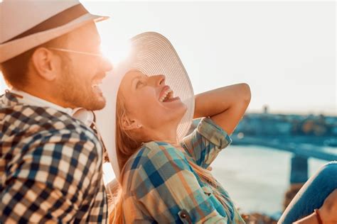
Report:
[[[57,111],[62,111],[63,113],[67,113],[68,115],[76,118],[77,120],[82,121],[86,125],[90,126],[92,122],[95,120],[94,113],[92,111],[87,111],[85,108],[64,108],[63,106],[58,106],[55,103],[50,103],[44,99],[38,98],[31,94],[26,93],[25,91],[21,91],[18,89],[9,90],[12,94],[17,95],[18,103],[31,105],[31,106],[41,106],[41,107],[50,107]]]

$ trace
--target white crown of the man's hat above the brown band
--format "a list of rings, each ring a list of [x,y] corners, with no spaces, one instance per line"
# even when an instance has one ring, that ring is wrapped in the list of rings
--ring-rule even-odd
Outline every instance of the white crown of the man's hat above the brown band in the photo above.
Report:
[[[4,0],[0,3],[0,43],[77,4],[77,0]]]

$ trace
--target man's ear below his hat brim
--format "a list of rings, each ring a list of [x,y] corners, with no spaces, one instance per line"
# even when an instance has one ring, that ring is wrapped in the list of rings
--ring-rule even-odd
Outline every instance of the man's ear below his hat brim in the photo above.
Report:
[[[61,63],[60,57],[46,47],[38,47],[31,56],[31,62],[37,74],[48,81],[53,81],[56,78],[56,69]]]

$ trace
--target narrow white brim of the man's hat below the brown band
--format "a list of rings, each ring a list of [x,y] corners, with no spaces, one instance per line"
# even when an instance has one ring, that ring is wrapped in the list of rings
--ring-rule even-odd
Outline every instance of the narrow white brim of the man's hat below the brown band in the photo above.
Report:
[[[58,26],[50,30],[45,30],[39,33],[33,33],[32,35],[25,36],[16,40],[12,40],[0,45],[0,63],[6,62],[13,57],[21,55],[23,52],[37,47],[43,43],[47,43],[49,40],[69,33],[80,26],[89,23],[90,21],[98,22],[109,18],[108,16],[96,16],[90,13],[85,13],[84,15],[66,23],[63,26]]]

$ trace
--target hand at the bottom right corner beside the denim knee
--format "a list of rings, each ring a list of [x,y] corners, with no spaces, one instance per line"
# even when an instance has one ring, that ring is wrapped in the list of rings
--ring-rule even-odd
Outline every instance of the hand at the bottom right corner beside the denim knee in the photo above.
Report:
[[[337,189],[332,191],[319,208],[323,223],[337,223]]]

